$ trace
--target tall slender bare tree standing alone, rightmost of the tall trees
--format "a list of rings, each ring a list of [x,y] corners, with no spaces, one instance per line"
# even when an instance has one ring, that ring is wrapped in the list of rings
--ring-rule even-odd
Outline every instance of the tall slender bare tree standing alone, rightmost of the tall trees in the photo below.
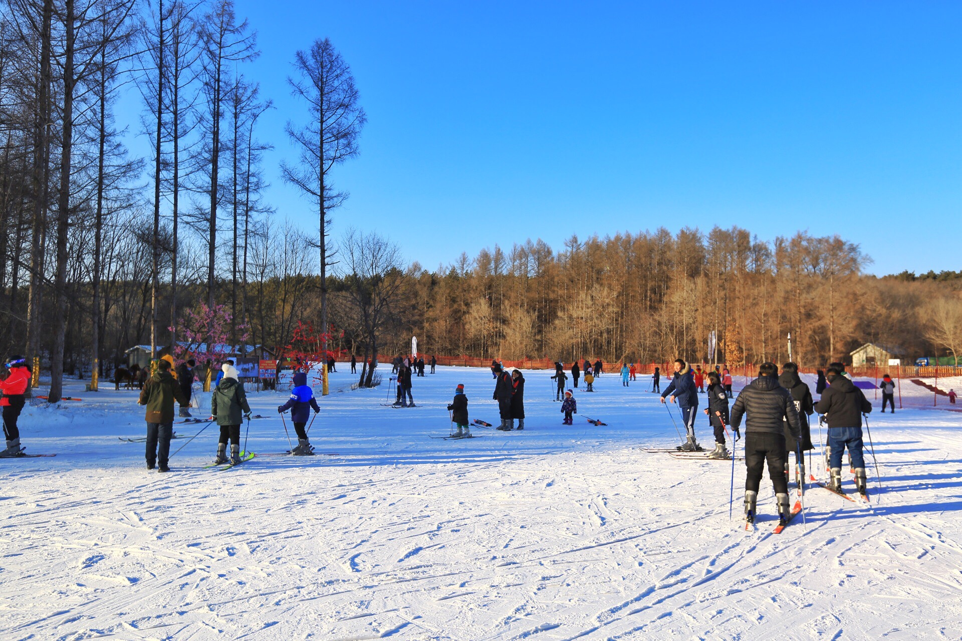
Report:
[[[308,51],[294,55],[297,78],[288,78],[293,95],[307,102],[309,120],[302,127],[288,122],[287,132],[300,149],[300,163],[281,163],[284,180],[296,185],[316,204],[317,243],[320,251],[321,349],[327,350],[327,213],[342,204],[346,194],[334,190],[328,178],[334,165],[357,155],[358,136],[367,115],[358,102],[354,76],[327,38],[316,39]],[[328,393],[323,368],[322,394]]]

